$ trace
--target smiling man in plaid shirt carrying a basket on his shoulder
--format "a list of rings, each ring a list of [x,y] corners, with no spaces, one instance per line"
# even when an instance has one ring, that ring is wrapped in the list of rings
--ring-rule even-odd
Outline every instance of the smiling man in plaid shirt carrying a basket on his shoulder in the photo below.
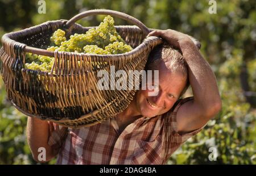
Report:
[[[98,125],[80,129],[28,118],[32,154],[46,148],[57,164],[165,164],[171,154],[197,134],[221,109],[216,78],[193,41],[183,33],[157,30],[170,46],[154,49],[147,69],[159,70],[158,95],[137,91],[127,109]],[[172,56],[172,57],[170,57]],[[179,100],[191,84],[193,96]]]

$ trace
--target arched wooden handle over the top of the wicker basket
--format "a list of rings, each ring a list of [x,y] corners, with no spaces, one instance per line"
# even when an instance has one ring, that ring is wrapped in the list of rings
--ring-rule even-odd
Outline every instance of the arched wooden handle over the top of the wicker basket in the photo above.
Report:
[[[112,15],[137,25],[146,36],[148,35],[148,33],[150,33],[150,30],[146,27],[146,25],[144,25],[142,22],[140,22],[138,19],[134,18],[133,16],[127,15],[123,12],[106,10],[106,9],[96,9],[96,10],[88,10],[88,11],[81,12],[80,14],[77,14],[76,16],[73,16],[73,18],[68,20],[68,22],[66,23],[66,27],[68,29],[71,29],[73,24],[75,24],[77,20],[80,20],[90,15]]]

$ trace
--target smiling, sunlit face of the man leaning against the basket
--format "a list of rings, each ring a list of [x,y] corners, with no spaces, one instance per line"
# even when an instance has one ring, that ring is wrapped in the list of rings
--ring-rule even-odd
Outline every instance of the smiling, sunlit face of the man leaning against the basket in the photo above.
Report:
[[[150,91],[148,88],[139,90],[136,94],[137,110],[145,117],[155,117],[170,110],[186,84],[186,78],[180,73],[168,70],[164,62],[160,62],[156,69],[159,70],[158,95],[148,96],[150,92],[154,91]]]

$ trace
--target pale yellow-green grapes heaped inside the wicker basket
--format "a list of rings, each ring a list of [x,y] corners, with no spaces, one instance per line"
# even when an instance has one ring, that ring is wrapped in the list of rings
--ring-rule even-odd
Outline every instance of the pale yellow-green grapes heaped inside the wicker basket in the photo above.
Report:
[[[96,28],[90,28],[86,33],[75,33],[65,37],[65,31],[57,29],[50,38],[48,51],[68,51],[88,54],[122,54],[133,50],[127,45],[114,27],[114,19],[108,15]],[[26,54],[25,68],[31,70],[51,71],[54,58],[44,55]]]

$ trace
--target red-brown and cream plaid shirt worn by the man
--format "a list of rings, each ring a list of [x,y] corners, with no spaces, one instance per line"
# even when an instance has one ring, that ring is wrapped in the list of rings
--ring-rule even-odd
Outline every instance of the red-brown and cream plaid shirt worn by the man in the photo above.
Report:
[[[59,149],[56,164],[166,164],[182,143],[203,128],[177,133],[177,109],[192,99],[180,99],[165,114],[139,118],[121,133],[113,117],[90,127],[68,128],[66,136],[54,131],[48,144]]]

